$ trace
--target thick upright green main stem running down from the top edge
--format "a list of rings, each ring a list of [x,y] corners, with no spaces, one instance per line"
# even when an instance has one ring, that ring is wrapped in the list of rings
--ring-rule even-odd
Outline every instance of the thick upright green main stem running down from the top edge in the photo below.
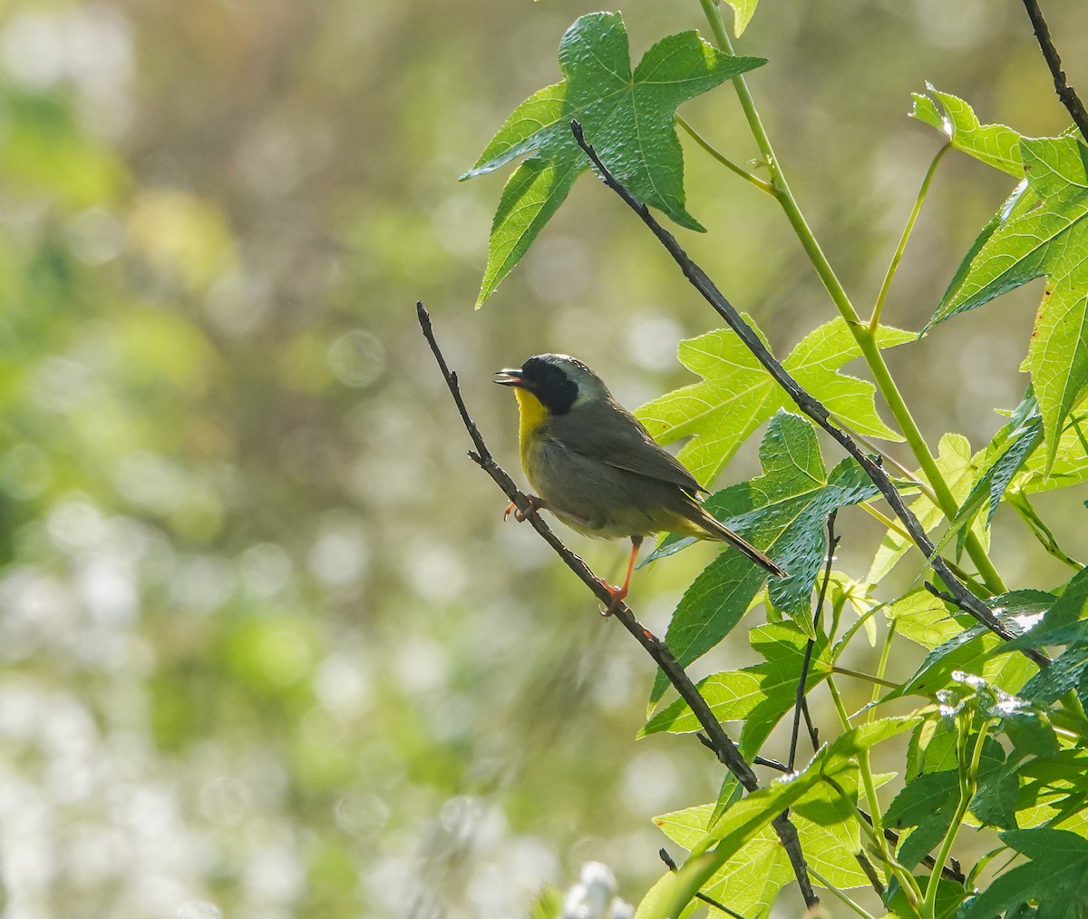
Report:
[[[714,33],[714,39],[718,48],[726,53],[732,54],[733,45],[729,40],[729,33],[726,30],[726,23],[721,17],[721,10],[718,7],[717,0],[700,0],[700,3],[710,24],[710,30]],[[737,90],[737,97],[740,100],[741,109],[744,111],[744,118],[747,120],[752,136],[755,138],[755,143],[767,163],[771,185],[775,188],[775,197],[786,213],[786,218],[793,226],[793,232],[796,234],[809,261],[812,261],[813,267],[816,269],[820,281],[827,289],[832,303],[834,303],[836,308],[839,310],[839,315],[845,320],[846,328],[862,348],[862,354],[873,371],[877,388],[888,403],[895,422],[900,426],[903,437],[918,461],[918,465],[922,466],[926,478],[929,479],[929,483],[937,494],[941,512],[950,520],[953,519],[960,510],[959,505],[952,497],[948,482],[944,481],[944,477],[937,467],[937,461],[929,452],[929,446],[926,444],[922,431],[918,430],[918,426],[911,416],[911,412],[906,407],[906,403],[903,401],[903,396],[900,394],[888,370],[888,365],[885,364],[880,348],[877,347],[875,334],[867,323],[862,322],[857,310],[854,309],[854,305],[850,302],[850,297],[846,295],[838,275],[831,268],[831,264],[828,261],[827,256],[824,255],[824,250],[819,247],[819,243],[816,242],[815,235],[813,235],[812,230],[805,221],[804,215],[801,212],[801,208],[798,206],[796,199],[790,191],[789,183],[786,181],[786,174],[779,167],[778,157],[770,145],[770,138],[767,136],[767,131],[759,119],[758,111],[756,111],[755,101],[752,98],[752,93],[747,87],[743,74],[733,77],[733,88]],[[977,566],[987,589],[992,593],[1005,592],[1006,588],[1001,577],[987,557],[986,550],[982,549],[981,543],[979,543],[974,534],[968,534],[967,536],[967,552]]]

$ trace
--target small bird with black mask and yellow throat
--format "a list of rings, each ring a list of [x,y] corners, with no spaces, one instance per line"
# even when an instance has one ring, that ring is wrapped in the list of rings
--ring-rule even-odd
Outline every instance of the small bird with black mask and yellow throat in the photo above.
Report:
[[[529,495],[532,508],[551,511],[585,536],[631,540],[623,584],[601,580],[611,597],[606,614],[627,597],[642,541],[655,532],[728,542],[775,577],[788,577],[703,506],[698,495],[707,490],[588,365],[568,354],[536,354],[494,377],[517,396],[521,466],[537,492]],[[524,519],[512,502],[504,517],[511,511]]]

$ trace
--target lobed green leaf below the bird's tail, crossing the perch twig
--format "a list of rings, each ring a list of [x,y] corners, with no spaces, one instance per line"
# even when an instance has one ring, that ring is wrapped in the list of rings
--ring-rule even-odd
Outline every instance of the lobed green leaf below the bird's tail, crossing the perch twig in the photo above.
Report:
[[[764,663],[716,673],[698,683],[698,691],[715,719],[720,722],[744,721],[740,750],[745,757],[759,751],[774,726],[793,707],[807,644],[793,623],[753,628],[751,640],[752,647],[765,658]],[[814,649],[805,685],[812,689],[829,673],[826,646],[818,646]],[[639,732],[639,737],[663,731],[685,734],[700,730],[691,708],[683,699],[677,699],[654,715]]]

